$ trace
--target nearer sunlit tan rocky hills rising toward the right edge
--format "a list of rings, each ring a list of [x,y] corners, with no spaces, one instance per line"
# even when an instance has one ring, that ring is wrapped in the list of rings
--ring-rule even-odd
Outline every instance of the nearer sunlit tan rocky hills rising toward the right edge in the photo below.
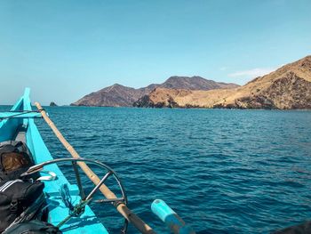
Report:
[[[158,87],[137,107],[311,109],[311,56],[234,89],[192,91]]]

